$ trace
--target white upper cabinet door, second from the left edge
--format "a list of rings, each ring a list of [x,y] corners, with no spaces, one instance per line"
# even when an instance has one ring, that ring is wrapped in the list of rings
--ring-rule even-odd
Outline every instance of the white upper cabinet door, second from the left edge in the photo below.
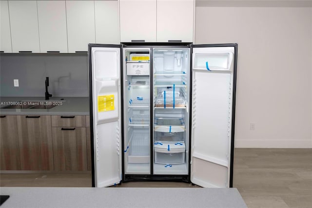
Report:
[[[12,51],[39,53],[37,1],[9,0]]]

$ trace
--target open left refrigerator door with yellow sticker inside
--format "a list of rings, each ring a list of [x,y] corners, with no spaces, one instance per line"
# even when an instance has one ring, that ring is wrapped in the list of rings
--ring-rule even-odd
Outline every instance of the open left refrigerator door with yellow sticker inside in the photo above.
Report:
[[[121,45],[89,45],[90,109],[96,187],[121,179]]]

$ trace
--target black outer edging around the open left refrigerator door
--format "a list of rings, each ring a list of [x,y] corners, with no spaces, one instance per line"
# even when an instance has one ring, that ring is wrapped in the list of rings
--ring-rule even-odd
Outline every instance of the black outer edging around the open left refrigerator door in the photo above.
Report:
[[[93,132],[93,80],[92,80],[92,47],[111,47],[111,48],[120,48],[120,79],[122,80],[122,45],[119,44],[92,44],[89,43],[88,45],[88,62],[89,62],[89,108],[90,108],[90,134],[91,134],[91,173],[92,173],[92,187],[96,187],[95,183],[95,154],[94,154],[94,132]],[[123,83],[120,80],[120,88],[123,88]],[[121,106],[123,106],[123,90],[121,90]],[[121,121],[123,121],[123,110],[121,110]],[[121,181],[123,180],[124,176],[124,169],[123,169],[123,122],[121,122],[121,151],[122,151],[122,177]]]

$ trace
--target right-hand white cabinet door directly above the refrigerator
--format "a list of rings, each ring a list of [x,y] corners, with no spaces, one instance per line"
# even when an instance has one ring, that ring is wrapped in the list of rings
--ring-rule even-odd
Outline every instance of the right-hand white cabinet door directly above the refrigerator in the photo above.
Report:
[[[157,42],[193,42],[194,0],[157,0]]]

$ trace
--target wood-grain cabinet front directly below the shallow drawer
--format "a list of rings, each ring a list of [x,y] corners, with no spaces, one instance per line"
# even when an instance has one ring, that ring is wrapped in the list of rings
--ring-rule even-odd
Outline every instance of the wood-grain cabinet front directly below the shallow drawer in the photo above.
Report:
[[[55,170],[87,170],[85,127],[53,127],[53,157]]]

